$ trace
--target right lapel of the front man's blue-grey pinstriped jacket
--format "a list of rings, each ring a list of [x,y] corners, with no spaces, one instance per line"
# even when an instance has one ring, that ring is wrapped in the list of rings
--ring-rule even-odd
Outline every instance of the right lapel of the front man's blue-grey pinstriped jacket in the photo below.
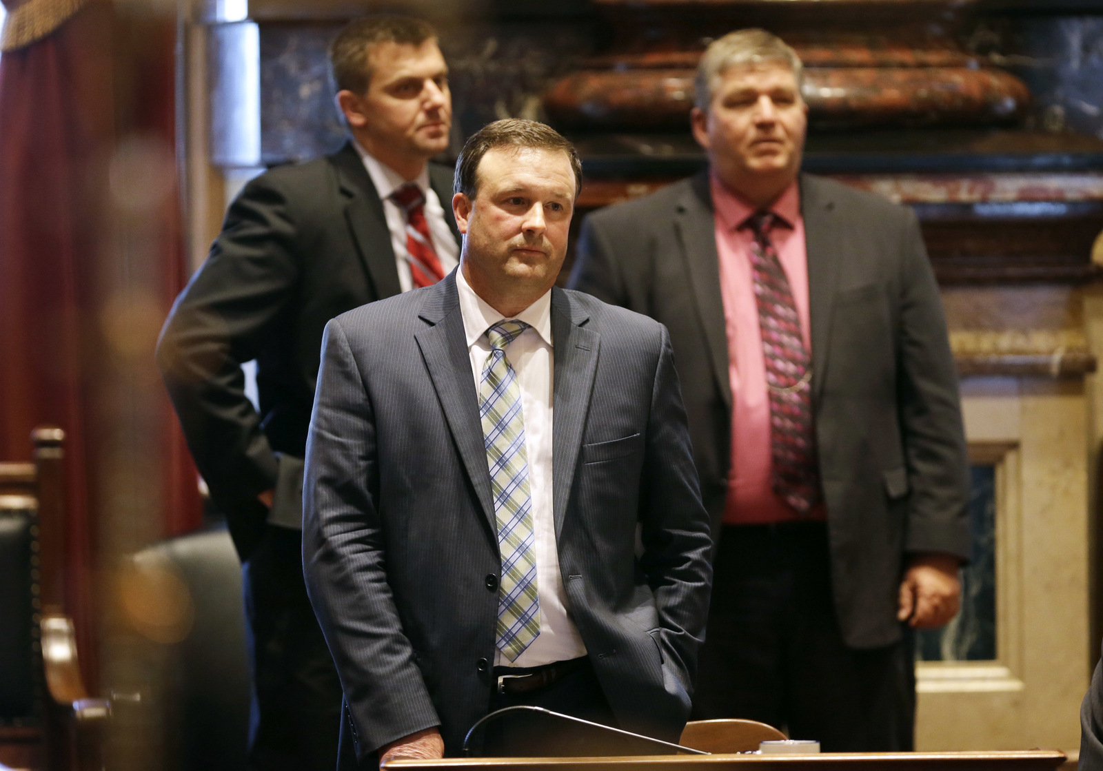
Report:
[[[574,307],[561,289],[552,290],[552,339],[555,345],[552,420],[552,511],[556,537],[563,529],[575,464],[586,428],[600,338],[583,324],[589,315]]]

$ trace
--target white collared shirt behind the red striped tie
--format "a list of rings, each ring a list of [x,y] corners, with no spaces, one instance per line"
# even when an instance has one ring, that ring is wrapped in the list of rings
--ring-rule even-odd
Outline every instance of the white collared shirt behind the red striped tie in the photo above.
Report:
[[[361,160],[364,161],[364,168],[367,169],[367,175],[372,178],[375,192],[383,201],[383,213],[387,217],[390,246],[395,250],[395,265],[398,268],[398,285],[404,292],[408,292],[414,288],[414,278],[410,276],[410,265],[407,261],[409,254],[406,251],[406,212],[390,199],[390,194],[406,184],[406,180],[390,167],[375,160],[358,142],[354,141],[353,147],[356,148]],[[452,268],[459,265],[460,247],[456,243],[456,236],[452,235],[452,228],[448,226],[445,208],[440,199],[437,197],[437,191],[429,185],[429,168],[422,169],[417,179],[413,181],[425,195],[425,219],[429,225],[429,235],[432,236],[433,249],[436,249],[440,266],[447,276],[452,271]],[[449,202],[449,206],[451,206],[451,202]]]

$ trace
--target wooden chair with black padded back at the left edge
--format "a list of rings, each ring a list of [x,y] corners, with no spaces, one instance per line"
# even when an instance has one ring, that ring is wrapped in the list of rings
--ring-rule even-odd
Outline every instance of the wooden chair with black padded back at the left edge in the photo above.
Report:
[[[63,602],[65,433],[31,438],[33,463],[0,463],[0,762],[98,769],[109,705],[84,687]]]

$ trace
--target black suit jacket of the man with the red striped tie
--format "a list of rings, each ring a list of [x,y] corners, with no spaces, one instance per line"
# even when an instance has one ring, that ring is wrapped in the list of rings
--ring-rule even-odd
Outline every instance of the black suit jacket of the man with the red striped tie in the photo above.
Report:
[[[429,176],[453,232],[451,171]],[[457,233],[457,239],[459,234]],[[400,291],[383,203],[355,148],[272,169],[231,204],[202,268],[172,308],[158,364],[188,446],[247,556],[265,522],[301,521],[302,457],[322,330]],[[257,361],[260,411],[242,363]]]

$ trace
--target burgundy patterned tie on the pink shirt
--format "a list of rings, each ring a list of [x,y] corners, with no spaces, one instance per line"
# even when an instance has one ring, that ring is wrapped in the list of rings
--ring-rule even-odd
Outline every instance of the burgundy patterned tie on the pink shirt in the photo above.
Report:
[[[789,278],[770,240],[770,228],[779,219],[772,212],[756,212],[741,227],[754,233],[751,266],[770,392],[773,492],[799,514],[807,514],[820,500],[810,387],[812,363]]]

